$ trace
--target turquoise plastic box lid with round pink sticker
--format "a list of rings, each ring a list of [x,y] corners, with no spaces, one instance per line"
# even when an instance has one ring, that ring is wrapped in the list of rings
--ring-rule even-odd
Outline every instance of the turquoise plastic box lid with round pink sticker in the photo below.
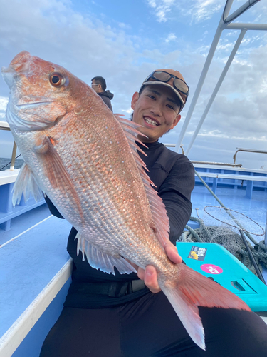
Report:
[[[187,266],[235,293],[252,311],[267,311],[267,286],[226,248],[194,242],[176,246]]]

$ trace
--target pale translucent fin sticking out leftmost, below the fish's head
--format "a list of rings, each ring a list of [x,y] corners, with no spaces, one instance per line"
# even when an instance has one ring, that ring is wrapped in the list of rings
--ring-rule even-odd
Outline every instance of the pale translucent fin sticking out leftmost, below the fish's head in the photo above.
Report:
[[[20,203],[22,193],[25,202],[28,201],[30,196],[33,196],[36,202],[43,198],[43,193],[40,188],[38,188],[31,169],[29,169],[28,165],[25,163],[21,167],[19,175],[15,181],[14,193],[12,197],[13,206]]]

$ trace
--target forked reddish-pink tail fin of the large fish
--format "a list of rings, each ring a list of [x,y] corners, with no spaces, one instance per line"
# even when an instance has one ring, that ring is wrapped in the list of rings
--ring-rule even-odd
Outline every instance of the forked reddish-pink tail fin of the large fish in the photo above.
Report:
[[[168,281],[162,286],[162,291],[194,343],[205,350],[204,328],[197,306],[236,308],[246,311],[251,309],[241,298],[218,283],[184,264],[180,264],[180,268],[178,281],[176,280],[174,284]]]

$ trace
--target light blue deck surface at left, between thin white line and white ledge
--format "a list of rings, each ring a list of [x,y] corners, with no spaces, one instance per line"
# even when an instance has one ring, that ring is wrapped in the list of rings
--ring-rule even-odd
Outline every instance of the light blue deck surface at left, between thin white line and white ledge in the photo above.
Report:
[[[67,221],[50,216],[1,246],[0,337],[68,261],[70,228]]]

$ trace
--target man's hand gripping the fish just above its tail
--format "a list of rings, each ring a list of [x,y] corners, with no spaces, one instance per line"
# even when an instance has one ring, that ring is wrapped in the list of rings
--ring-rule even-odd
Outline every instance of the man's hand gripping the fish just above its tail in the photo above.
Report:
[[[182,257],[179,256],[177,248],[170,241],[166,244],[164,249],[169,260],[177,264],[182,263]],[[135,266],[135,269],[137,270],[138,278],[145,282],[145,285],[152,293],[159,293],[159,291],[161,291],[161,288],[159,288],[159,284],[157,282],[157,271],[154,266],[147,266],[144,270],[139,266],[134,264],[132,265]]]

